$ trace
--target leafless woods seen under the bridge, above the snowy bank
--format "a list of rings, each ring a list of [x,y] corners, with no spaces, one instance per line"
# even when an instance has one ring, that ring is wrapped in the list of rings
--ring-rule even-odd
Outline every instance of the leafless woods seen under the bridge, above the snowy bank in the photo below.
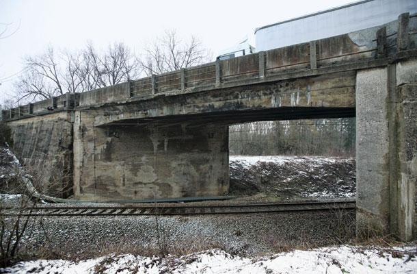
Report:
[[[266,121],[229,127],[230,155],[355,155],[355,118]]]

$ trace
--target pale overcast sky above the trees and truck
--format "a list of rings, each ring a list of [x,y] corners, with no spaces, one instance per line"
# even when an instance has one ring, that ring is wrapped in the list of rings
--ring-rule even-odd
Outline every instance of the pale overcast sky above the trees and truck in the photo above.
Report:
[[[254,44],[256,27],[333,8],[352,0],[0,0],[0,23],[8,38],[0,40],[0,102],[12,92],[25,55],[55,49],[81,49],[87,40],[98,48],[124,42],[140,53],[147,41],[166,29],[184,39],[202,40],[215,56],[246,35]],[[4,29],[4,25],[0,25]],[[256,46],[256,45],[254,45]]]

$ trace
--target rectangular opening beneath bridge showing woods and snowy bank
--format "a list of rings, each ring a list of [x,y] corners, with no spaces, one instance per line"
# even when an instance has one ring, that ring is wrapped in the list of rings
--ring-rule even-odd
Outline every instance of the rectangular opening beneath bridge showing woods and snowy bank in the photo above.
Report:
[[[230,195],[260,201],[355,198],[355,118],[229,126]]]

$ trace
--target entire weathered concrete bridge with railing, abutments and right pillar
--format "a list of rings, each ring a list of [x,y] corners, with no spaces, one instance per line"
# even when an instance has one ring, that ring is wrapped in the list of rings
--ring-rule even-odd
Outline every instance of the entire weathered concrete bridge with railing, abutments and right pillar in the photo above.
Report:
[[[416,14],[2,116],[40,188],[89,201],[226,195],[228,125],[355,116],[358,227],[417,238]]]

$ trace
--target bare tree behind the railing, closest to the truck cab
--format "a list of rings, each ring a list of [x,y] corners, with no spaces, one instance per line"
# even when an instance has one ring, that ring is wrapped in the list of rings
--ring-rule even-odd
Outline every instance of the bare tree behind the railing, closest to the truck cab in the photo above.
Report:
[[[178,38],[175,30],[167,30],[145,48],[145,54],[139,64],[146,75],[176,71],[189,66],[209,62],[211,53],[202,47],[202,42],[191,36],[189,42]]]

